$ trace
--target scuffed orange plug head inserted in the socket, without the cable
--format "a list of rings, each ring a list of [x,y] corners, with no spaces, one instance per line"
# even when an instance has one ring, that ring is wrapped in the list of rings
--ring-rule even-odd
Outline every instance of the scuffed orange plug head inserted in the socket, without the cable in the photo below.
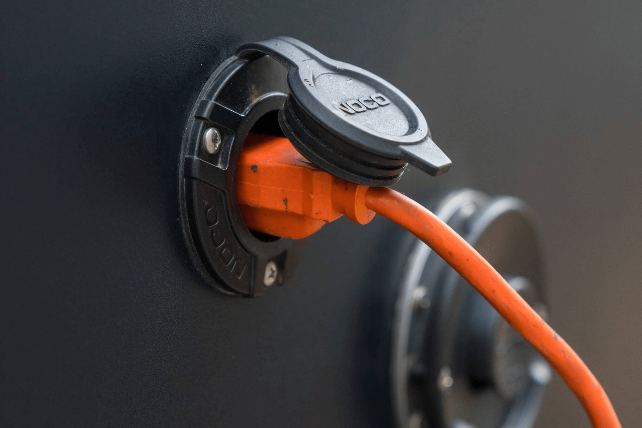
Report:
[[[265,234],[300,239],[344,214],[361,225],[374,217],[369,186],[326,173],[283,137],[248,134],[236,186],[245,224]]]

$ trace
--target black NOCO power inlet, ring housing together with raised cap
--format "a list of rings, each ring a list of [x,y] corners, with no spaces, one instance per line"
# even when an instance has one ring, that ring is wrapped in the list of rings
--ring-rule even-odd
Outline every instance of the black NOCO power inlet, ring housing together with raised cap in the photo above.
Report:
[[[251,232],[236,194],[248,133],[287,137],[304,157],[352,183],[388,186],[408,164],[445,173],[419,108],[387,81],[292,39],[241,46],[205,83],[180,162],[184,234],[212,286],[244,296],[283,284],[300,242]]]

